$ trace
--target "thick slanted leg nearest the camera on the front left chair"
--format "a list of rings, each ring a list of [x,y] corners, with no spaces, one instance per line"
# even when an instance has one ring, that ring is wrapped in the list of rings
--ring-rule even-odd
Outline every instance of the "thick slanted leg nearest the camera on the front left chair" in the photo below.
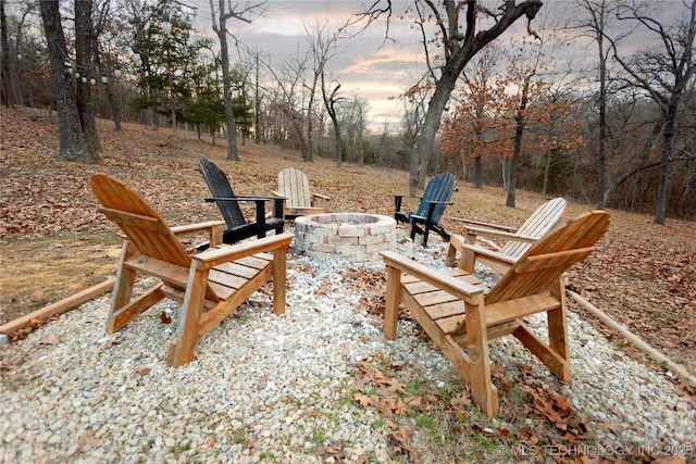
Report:
[[[191,266],[184,297],[184,314],[179,321],[176,340],[170,343],[167,363],[173,367],[182,366],[196,359],[194,349],[198,343],[198,327],[203,311],[208,274],[210,269],[196,269]]]

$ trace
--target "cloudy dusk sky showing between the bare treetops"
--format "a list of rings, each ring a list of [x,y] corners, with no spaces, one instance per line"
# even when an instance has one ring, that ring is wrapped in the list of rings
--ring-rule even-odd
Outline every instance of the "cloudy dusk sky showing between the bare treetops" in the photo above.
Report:
[[[209,0],[189,0],[186,3],[197,8],[196,27],[199,33],[211,36]],[[213,3],[216,5],[217,1],[213,0]],[[228,30],[246,47],[270,57],[274,65],[282,65],[285,60],[291,60],[308,49],[307,29],[311,29],[312,25],[326,25],[326,30],[334,32],[352,14],[362,11],[365,3],[270,0],[264,5],[266,11],[262,16],[254,18],[251,24],[229,20]],[[406,0],[393,1],[396,8],[405,8],[410,3]],[[486,2],[489,8],[498,4],[499,1]],[[533,27],[539,32],[545,27],[558,28],[564,17],[580,15],[574,5],[575,2],[571,0],[545,1]],[[664,5],[663,10],[681,10],[681,2],[676,0],[664,2]],[[497,42],[508,43],[512,38],[522,39],[525,36],[529,38],[525,27],[526,21],[520,20]],[[327,75],[341,84],[344,97],[358,96],[369,102],[372,128],[384,127],[385,124],[396,127],[399,124],[403,104],[394,98],[413,85],[425,71],[422,46],[418,42],[419,30],[393,17],[389,37],[393,40],[385,40],[385,23],[374,24],[361,36],[339,41],[335,55],[327,64]],[[624,47],[638,45],[636,38],[626,41]],[[596,54],[594,43],[573,37],[563,52],[556,57],[554,64],[563,68],[570,63],[573,68],[580,68],[592,63]]]

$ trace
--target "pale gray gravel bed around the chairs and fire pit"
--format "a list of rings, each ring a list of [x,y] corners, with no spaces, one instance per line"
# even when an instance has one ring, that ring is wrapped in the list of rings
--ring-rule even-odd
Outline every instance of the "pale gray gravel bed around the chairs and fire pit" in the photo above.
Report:
[[[436,239],[426,251],[401,243],[397,250],[444,268],[445,246]],[[390,462],[385,421],[344,401],[351,363],[383,352],[420,363],[443,386],[459,377],[411,323],[400,322],[397,340],[386,341],[380,319],[356,311],[362,294],[344,290],[347,266],[290,258],[286,313],[273,315],[271,297],[257,292],[199,342],[197,361],[179,368],[165,363],[179,311],[167,300],[109,335],[105,296],[0,348],[0,462],[314,463],[322,462],[316,447],[338,439],[347,462]],[[162,324],[162,311],[173,324]],[[569,386],[512,338],[493,341],[492,358],[533,366],[594,423],[620,425],[595,427],[598,442],[658,454],[691,450],[693,457],[694,405],[664,375],[617,351],[572,313],[570,338]]]

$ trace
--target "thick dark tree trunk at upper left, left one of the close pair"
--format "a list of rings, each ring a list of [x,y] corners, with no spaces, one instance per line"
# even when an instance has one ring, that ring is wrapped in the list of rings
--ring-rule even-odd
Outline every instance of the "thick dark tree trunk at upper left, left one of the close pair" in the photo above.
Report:
[[[59,161],[77,161],[83,163],[97,162],[87,149],[79,123],[79,114],[75,105],[75,95],[71,75],[65,72],[64,50],[65,35],[61,25],[61,16],[58,0],[45,0],[39,2],[44,32],[48,43],[48,54],[51,65],[51,80],[53,95],[55,96],[58,113],[58,130],[60,149]]]

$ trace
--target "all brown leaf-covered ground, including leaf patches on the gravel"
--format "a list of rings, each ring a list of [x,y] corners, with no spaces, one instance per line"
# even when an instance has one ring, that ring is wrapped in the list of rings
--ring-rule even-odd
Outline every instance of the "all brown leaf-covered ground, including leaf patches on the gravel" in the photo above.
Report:
[[[54,114],[2,109],[0,324],[113,275],[120,244],[114,226],[98,213],[89,190],[89,177],[96,172],[111,174],[141,191],[172,225],[220,218],[215,206],[203,202],[209,193],[197,170],[201,156],[227,173],[237,195],[270,195],[279,170],[300,167],[313,190],[332,197],[330,208],[334,211],[391,215],[393,193],[408,191],[403,172],[351,164],[337,168],[325,159],[303,163],[295,150],[250,141],[239,149],[241,162],[232,163],[225,160],[225,147],[213,146],[209,139],[199,141],[192,131],[179,130],[173,137],[170,129],[125,124],[125,130],[116,133],[105,121],[100,121],[99,127],[104,150],[99,164],[59,163],[54,161]],[[463,181],[458,187],[453,205],[446,213],[447,226],[451,226],[451,216],[519,226],[545,200],[537,193],[518,191],[518,208],[509,209],[499,188],[476,190]],[[407,198],[407,206],[415,204],[417,199]],[[588,209],[588,204],[569,202],[561,221]],[[610,213],[612,224],[598,250],[571,272],[573,290],[696,374],[696,224],[668,220],[667,226],[658,226],[647,215]],[[368,294],[362,306],[375,314],[383,311],[383,274],[359,271],[348,284]],[[572,301],[570,305],[593,321]],[[622,337],[594,323],[622,349],[647,362],[647,356]],[[458,447],[463,442],[470,451],[474,447],[474,456],[487,459],[492,444],[554,447],[593,440],[586,419],[573,413],[563,398],[549,393],[534,375],[526,375],[525,366],[514,366],[523,377],[514,384],[494,369],[496,385],[517,393],[506,394],[511,403],[505,407],[504,419],[509,425],[493,429],[470,407],[465,388],[433,391],[418,375],[412,376],[418,373],[414,366],[391,360],[369,361],[355,366],[349,399],[382,412],[393,424],[389,446],[409,462],[420,462],[423,450],[414,446],[412,428],[400,419],[406,416],[414,417],[422,429],[433,427],[433,439],[446,441],[451,450],[448,455],[455,456],[461,454]],[[693,394],[689,388],[684,390],[684,394]],[[428,422],[432,417],[446,419],[435,425]],[[320,450],[335,462],[341,462],[341,452],[340,442]]]

